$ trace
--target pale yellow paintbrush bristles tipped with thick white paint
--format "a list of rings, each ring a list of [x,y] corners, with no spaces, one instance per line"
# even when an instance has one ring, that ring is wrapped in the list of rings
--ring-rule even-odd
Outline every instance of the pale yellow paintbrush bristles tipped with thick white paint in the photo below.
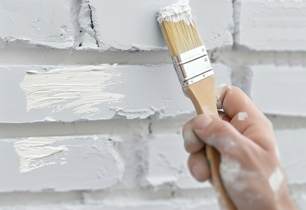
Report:
[[[203,45],[188,4],[172,4],[157,12],[171,57]]]

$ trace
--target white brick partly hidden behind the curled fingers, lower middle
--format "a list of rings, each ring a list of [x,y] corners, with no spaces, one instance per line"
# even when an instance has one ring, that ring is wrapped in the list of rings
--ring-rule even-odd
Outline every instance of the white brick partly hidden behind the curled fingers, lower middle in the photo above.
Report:
[[[180,134],[155,134],[147,142],[147,171],[144,186],[153,188],[163,185],[180,189],[210,188],[208,182],[197,182],[187,168],[189,154],[184,149]]]

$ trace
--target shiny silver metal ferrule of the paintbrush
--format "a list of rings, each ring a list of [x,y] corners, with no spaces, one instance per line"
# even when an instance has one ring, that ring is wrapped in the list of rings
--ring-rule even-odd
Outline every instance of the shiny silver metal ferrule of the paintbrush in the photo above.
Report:
[[[214,74],[204,45],[173,57],[172,63],[182,87]]]

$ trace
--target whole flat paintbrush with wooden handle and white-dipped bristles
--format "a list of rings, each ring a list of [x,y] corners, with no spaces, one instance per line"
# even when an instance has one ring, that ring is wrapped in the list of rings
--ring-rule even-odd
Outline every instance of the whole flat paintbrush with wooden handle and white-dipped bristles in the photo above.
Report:
[[[218,116],[214,71],[190,6],[187,3],[172,4],[158,10],[156,16],[183,92],[191,99],[197,114]],[[220,203],[229,210],[236,210],[221,182],[219,152],[208,145],[205,149]]]

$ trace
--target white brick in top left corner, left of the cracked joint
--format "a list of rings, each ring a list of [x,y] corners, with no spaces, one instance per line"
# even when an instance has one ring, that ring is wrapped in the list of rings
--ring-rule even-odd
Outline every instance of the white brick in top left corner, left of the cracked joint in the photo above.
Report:
[[[72,47],[67,0],[5,0],[0,7],[0,48],[8,46]]]

